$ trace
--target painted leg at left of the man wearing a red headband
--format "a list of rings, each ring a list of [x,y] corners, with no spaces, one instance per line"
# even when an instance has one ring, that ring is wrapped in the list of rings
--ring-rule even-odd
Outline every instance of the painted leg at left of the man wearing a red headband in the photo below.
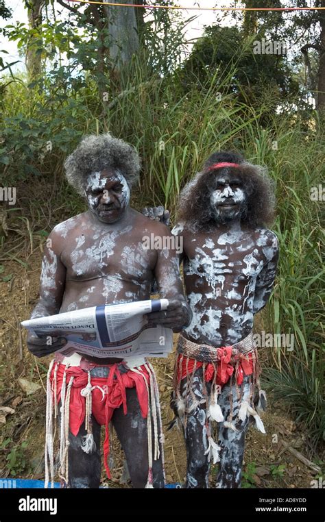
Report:
[[[191,379],[191,376],[189,376]],[[182,380],[181,394],[187,407],[191,406],[193,397],[186,393],[186,378]],[[192,390],[197,401],[204,399],[202,368],[195,371],[192,382]],[[186,399],[187,396],[187,399]],[[208,449],[208,436],[206,434],[206,403],[199,404],[193,412],[187,415],[184,427],[186,443],[187,469],[186,488],[208,488],[208,456],[204,453]]]

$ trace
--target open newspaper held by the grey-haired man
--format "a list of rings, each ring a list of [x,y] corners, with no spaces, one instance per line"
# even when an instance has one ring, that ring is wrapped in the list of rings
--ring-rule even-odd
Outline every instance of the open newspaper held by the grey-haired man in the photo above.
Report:
[[[82,308],[73,312],[38,317],[21,325],[40,337],[64,337],[58,351],[70,356],[77,351],[93,357],[127,359],[134,356],[167,357],[173,348],[173,332],[148,325],[150,312],[167,310],[168,299],[148,299],[116,305]]]

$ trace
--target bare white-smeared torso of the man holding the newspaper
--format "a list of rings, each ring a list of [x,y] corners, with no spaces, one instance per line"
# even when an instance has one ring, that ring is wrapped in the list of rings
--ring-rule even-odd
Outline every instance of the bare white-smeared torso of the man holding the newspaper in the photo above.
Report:
[[[143,229],[107,225],[81,214],[56,227],[64,238],[61,261],[67,268],[60,312],[88,306],[147,299],[156,256],[143,249]],[[65,237],[64,237],[65,236]]]

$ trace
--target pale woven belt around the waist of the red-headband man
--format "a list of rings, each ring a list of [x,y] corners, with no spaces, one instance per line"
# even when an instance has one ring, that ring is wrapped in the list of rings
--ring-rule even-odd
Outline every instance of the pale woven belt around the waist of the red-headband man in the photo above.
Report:
[[[221,347],[225,348],[225,347]],[[182,334],[178,338],[178,353],[197,361],[202,362],[217,362],[220,358],[218,350],[220,348],[211,345],[199,345],[193,341],[186,339]],[[232,356],[241,358],[241,356],[248,356],[255,350],[253,334],[248,334],[247,337],[240,340],[239,343],[232,345]]]

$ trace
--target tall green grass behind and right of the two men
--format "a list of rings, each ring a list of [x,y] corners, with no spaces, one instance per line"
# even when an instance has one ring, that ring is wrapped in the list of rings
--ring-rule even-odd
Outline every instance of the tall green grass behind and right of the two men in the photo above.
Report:
[[[268,114],[273,123],[265,129],[261,121],[267,109],[253,110],[229,91],[231,68],[222,77],[216,71],[203,90],[193,86],[184,93],[175,75],[160,77],[143,63],[135,59],[121,74],[123,95],[111,109],[103,108],[91,82],[77,92],[65,92],[67,96],[60,99],[56,98],[60,86],[49,86],[47,95],[39,93],[34,100],[21,84],[11,84],[3,116],[21,121],[33,118],[38,123],[40,132],[33,138],[35,153],[30,161],[48,184],[53,183],[56,172],[55,183],[60,187],[56,204],[68,205],[69,211],[80,209],[82,203],[62,182],[62,161],[81,134],[110,130],[131,142],[143,158],[134,206],[163,204],[172,216],[182,186],[213,151],[238,149],[252,162],[269,168],[278,201],[274,230],[280,261],[265,318],[269,332],[293,333],[295,344],[291,352],[281,347],[270,351],[264,375],[276,397],[306,427],[315,448],[324,437],[324,202],[310,199],[311,187],[322,184],[324,176],[324,136],[315,115],[311,114],[309,132],[294,112]],[[18,125],[15,136],[21,136],[23,142],[29,139],[28,132],[19,132]],[[40,161],[38,149],[49,136],[53,151]],[[8,179],[14,179],[18,150],[10,152],[12,159],[5,171]],[[32,177],[30,174],[29,181]],[[52,221],[54,218],[57,214]]]

